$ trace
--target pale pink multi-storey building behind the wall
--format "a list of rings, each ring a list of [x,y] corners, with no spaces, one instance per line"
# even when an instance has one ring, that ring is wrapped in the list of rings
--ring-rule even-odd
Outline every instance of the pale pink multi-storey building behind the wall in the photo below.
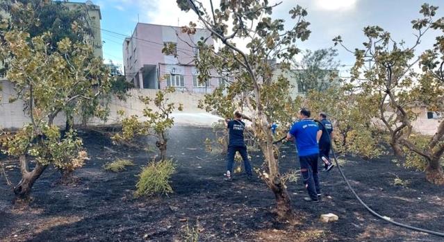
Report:
[[[209,31],[197,29],[195,35],[181,33],[180,27],[138,23],[131,38],[123,44],[124,72],[126,80],[135,87],[147,89],[176,89],[190,92],[213,92],[219,78],[211,78],[205,84],[197,81],[197,69],[193,48]],[[213,44],[210,37],[208,44]],[[173,46],[171,54],[162,53],[165,45]],[[175,48],[174,48],[175,46]]]

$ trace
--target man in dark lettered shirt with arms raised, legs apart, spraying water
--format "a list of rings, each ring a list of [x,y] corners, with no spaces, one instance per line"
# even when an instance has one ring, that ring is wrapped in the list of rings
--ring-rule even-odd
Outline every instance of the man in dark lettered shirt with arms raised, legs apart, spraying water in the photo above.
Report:
[[[245,173],[247,173],[247,177],[251,179],[253,175],[252,166],[249,164],[247,146],[245,146],[244,141],[245,123],[242,121],[242,118],[252,121],[247,116],[237,111],[234,113],[234,119],[225,120],[225,126],[227,126],[229,130],[227,178],[225,178],[225,180],[228,182],[230,182],[233,177],[234,156],[236,155],[236,151],[240,153],[240,156],[244,161]]]

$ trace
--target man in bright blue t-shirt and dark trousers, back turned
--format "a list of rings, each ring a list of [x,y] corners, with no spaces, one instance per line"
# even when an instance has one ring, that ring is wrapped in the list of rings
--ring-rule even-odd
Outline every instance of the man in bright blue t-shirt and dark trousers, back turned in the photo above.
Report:
[[[310,116],[309,110],[305,108],[299,110],[300,121],[293,124],[287,134],[287,139],[296,142],[303,182],[310,196],[304,200],[318,202],[320,200],[318,141],[322,131],[319,129],[318,123],[310,119]]]

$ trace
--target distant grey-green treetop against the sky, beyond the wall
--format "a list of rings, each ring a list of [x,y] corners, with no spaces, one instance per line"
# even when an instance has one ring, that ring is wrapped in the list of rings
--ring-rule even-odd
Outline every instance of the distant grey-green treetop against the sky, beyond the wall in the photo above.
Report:
[[[336,49],[307,50],[300,62],[295,62],[296,71],[293,73],[297,80],[297,89],[300,93],[310,90],[324,91],[338,78],[340,62],[335,60],[338,55]]]

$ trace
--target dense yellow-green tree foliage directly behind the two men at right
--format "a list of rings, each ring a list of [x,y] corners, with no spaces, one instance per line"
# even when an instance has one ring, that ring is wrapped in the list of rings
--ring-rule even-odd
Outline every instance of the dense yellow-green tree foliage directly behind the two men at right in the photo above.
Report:
[[[372,96],[354,92],[352,85],[330,87],[322,92],[311,90],[305,97],[315,113],[325,112],[334,121],[336,150],[361,155],[365,159],[381,154],[378,126],[372,122],[378,106]],[[365,112],[363,112],[365,110]]]

